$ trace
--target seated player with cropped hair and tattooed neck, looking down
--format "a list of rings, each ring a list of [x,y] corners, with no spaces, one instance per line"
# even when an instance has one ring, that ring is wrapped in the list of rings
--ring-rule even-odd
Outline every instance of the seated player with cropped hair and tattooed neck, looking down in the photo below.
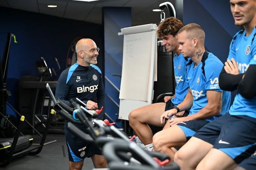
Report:
[[[172,160],[177,147],[185,144],[201,127],[226,113],[230,106],[230,92],[219,88],[218,77],[223,64],[213,53],[205,51],[204,38],[204,31],[195,23],[178,32],[179,50],[184,57],[189,57],[186,64],[189,91],[177,108],[161,115],[162,123],[170,118],[170,127],[153,136],[154,150],[169,155]],[[187,117],[172,118],[191,106]]]

